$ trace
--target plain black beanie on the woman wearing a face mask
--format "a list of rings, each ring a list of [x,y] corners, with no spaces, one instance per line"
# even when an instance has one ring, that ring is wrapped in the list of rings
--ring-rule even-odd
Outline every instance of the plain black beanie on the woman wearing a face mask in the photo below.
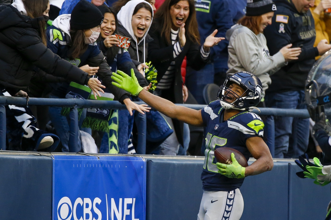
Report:
[[[90,29],[100,25],[103,18],[95,5],[81,0],[71,12],[70,27],[78,30]]]

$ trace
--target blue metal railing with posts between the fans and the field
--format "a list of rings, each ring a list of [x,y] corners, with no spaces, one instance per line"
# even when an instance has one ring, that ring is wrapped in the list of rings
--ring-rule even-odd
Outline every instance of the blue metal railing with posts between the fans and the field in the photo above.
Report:
[[[135,102],[137,104],[144,104],[144,102]],[[6,150],[6,110],[5,105],[46,105],[46,106],[60,106],[71,107],[69,114],[70,118],[70,135],[69,146],[76,146],[78,143],[78,111],[77,108],[103,108],[103,109],[126,109],[118,101],[104,101],[104,100],[85,100],[85,99],[66,99],[66,98],[29,98],[28,102],[23,97],[0,96],[0,149]],[[188,108],[200,110],[207,105],[192,105],[192,104],[177,104]],[[254,110],[254,113],[259,115],[274,115],[287,116],[298,118],[309,118],[306,109],[278,109],[278,108],[260,108],[260,113]],[[146,153],[146,115],[139,114],[137,120],[138,140],[137,140],[137,154]],[[76,149],[76,148],[73,148]]]

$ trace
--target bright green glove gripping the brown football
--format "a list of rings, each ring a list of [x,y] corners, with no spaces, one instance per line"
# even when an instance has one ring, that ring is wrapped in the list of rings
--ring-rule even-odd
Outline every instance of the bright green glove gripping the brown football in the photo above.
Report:
[[[228,178],[244,178],[245,177],[245,167],[241,166],[236,160],[234,153],[231,153],[232,164],[221,164],[216,163],[218,168],[218,173],[228,177]]]

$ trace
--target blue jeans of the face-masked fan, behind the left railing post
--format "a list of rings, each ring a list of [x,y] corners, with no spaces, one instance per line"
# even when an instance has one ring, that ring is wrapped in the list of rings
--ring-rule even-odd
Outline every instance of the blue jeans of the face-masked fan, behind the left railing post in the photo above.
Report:
[[[59,98],[55,95],[50,95],[50,98]],[[81,152],[82,145],[80,140],[80,133],[78,134],[78,144],[76,149],[69,148],[69,117],[61,115],[62,107],[50,106],[48,109],[49,118],[53,123],[57,135],[60,138],[62,144],[62,152]],[[86,109],[80,116],[80,121],[86,117]],[[68,118],[68,119],[67,119]],[[79,123],[81,125],[81,123]]]

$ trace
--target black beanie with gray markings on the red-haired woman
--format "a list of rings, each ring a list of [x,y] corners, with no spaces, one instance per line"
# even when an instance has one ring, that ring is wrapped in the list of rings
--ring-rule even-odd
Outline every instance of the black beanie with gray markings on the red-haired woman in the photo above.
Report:
[[[260,16],[276,10],[272,0],[247,0],[246,16]]]

